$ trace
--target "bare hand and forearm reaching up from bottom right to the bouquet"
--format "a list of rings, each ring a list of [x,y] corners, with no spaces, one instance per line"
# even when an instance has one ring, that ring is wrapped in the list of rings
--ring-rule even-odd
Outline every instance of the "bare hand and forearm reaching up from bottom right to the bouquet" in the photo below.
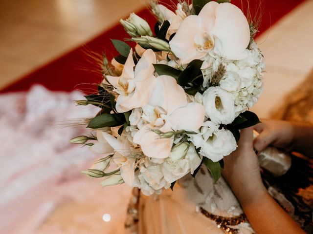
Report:
[[[237,150],[224,157],[222,174],[257,234],[305,233],[264,187],[253,149],[252,128],[241,131]]]

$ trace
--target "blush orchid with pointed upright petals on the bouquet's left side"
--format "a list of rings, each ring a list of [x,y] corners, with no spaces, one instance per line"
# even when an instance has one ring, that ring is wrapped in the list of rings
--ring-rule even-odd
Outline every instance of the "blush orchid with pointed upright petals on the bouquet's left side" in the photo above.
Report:
[[[133,50],[131,50],[122,75],[119,77],[107,76],[108,81],[119,94],[115,106],[117,112],[127,112],[147,104],[154,87],[154,63],[156,63],[156,55],[149,49],[143,53],[135,65]]]

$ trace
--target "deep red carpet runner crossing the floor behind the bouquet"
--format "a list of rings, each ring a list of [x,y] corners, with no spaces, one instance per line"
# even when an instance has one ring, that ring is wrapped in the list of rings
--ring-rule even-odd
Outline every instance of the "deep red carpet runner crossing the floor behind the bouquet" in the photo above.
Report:
[[[252,15],[256,12],[260,2],[262,2],[261,8],[264,14],[259,28],[259,34],[267,30],[270,25],[273,25],[303,1],[304,0],[243,0],[244,3],[249,2]],[[170,2],[170,0],[162,0],[162,2]],[[241,0],[232,0],[232,3],[239,7],[241,5],[240,2]],[[156,19],[151,15],[148,9],[143,9],[137,14],[146,19],[153,28]],[[27,90],[36,83],[43,84],[50,90],[71,91],[73,89],[80,89],[85,92],[92,92],[95,86],[84,83],[100,82],[101,73],[100,70],[96,72],[99,64],[92,61],[92,59],[90,60],[87,54],[92,51],[101,55],[102,52],[105,51],[109,59],[111,59],[117,52],[114,50],[110,39],[123,38],[128,38],[128,35],[124,32],[122,26],[116,25],[98,37],[90,40],[85,45],[72,50],[21,78],[4,88],[0,93]]]

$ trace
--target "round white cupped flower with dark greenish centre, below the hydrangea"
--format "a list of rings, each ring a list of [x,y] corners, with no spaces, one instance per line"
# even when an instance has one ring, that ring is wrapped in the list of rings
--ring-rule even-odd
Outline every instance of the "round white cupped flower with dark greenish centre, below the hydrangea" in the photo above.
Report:
[[[203,93],[205,113],[215,123],[231,123],[235,117],[234,99],[221,87],[209,87]]]

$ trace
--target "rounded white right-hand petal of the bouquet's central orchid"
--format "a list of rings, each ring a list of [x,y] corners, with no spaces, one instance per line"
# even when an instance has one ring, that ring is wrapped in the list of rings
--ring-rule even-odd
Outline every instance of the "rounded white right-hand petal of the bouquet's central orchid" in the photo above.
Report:
[[[197,131],[203,124],[205,110],[199,103],[188,103],[169,117],[174,130]]]

